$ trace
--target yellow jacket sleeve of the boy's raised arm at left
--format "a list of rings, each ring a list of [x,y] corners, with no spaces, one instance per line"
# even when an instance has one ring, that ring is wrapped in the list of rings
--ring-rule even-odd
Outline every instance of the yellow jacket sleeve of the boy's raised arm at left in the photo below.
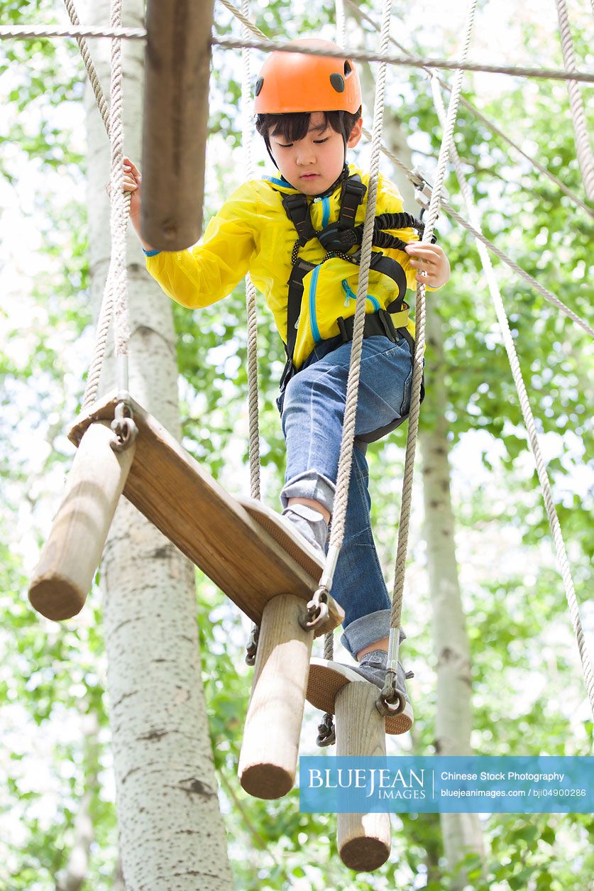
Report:
[[[256,184],[233,192],[207,225],[198,244],[159,251],[146,267],[168,297],[190,309],[208,307],[230,294],[247,274],[258,242]]]

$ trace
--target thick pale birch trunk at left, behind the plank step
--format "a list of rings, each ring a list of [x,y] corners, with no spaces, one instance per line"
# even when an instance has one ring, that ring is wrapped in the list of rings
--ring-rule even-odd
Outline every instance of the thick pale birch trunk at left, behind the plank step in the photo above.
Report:
[[[127,0],[124,24],[142,25],[143,10],[142,0]],[[85,23],[109,23],[108,0],[87,3],[85,12]],[[92,41],[91,53],[109,96],[110,41]],[[140,164],[142,42],[125,42],[124,59],[125,152]],[[91,287],[97,309],[110,254],[105,191],[110,153],[90,91],[87,132]],[[131,227],[127,256],[130,391],[179,436],[171,307],[145,272]],[[115,367],[108,356],[102,391],[114,386]],[[122,499],[101,577],[126,891],[232,888],[200,679],[193,568]]]

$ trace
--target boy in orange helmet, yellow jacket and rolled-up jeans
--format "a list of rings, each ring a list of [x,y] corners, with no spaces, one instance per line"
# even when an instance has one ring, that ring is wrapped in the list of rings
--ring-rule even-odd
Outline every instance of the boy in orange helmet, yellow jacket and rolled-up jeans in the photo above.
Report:
[[[317,39],[295,45],[338,50]],[[147,268],[185,307],[206,307],[247,274],[272,309],[288,362],[277,400],[287,446],[282,514],[321,555],[327,548],[346,403],[357,280],[369,176],[346,164],[361,138],[361,87],[353,61],[272,53],[256,83],[256,129],[279,175],[240,186],[207,225],[198,245],[160,252],[142,241]],[[140,237],[141,176],[126,159],[130,217]],[[365,442],[409,411],[414,327],[403,303],[416,279],[430,288],[450,266],[435,244],[411,244],[416,221],[402,214],[395,186],[379,177],[377,237],[362,343],[353,469],[345,538],[332,596],[345,609],[341,642],[358,666],[335,666],[382,687],[390,600],[370,527]],[[400,215],[400,216],[399,216]],[[418,225],[419,227],[419,225]],[[381,230],[381,231],[380,231]],[[411,258],[412,257],[412,258]],[[415,272],[418,270],[418,273]],[[288,285],[289,282],[289,285]],[[401,633],[401,636],[403,634]],[[406,697],[399,730],[412,723]]]

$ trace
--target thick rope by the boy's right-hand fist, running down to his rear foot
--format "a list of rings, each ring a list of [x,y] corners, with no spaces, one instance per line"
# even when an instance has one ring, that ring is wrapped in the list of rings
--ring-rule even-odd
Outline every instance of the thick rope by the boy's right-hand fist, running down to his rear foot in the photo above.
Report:
[[[462,61],[466,60],[468,55],[468,47],[470,46],[470,38],[472,36],[472,29],[475,20],[476,2],[477,0],[470,0],[470,4],[468,5],[466,33],[464,35],[460,53],[460,58]],[[439,151],[439,159],[437,161],[435,184],[431,192],[431,201],[427,210],[427,221],[425,222],[425,232],[423,233],[422,239],[422,241],[427,243],[430,243],[431,241],[435,228],[435,220],[437,219],[437,215],[439,213],[443,190],[443,180],[445,179],[448,156],[450,153],[450,146],[452,145],[453,132],[456,124],[456,117],[458,114],[458,104],[460,101],[462,78],[463,71],[460,69],[456,72],[456,76],[454,78],[454,84],[452,87],[452,98],[448,107],[448,114],[445,126],[443,127],[443,139]],[[391,628],[399,628],[401,624],[404,576],[406,573],[406,552],[408,549],[409,526],[411,520],[412,477],[414,472],[417,435],[419,432],[420,385],[423,374],[423,352],[425,349],[425,285],[420,283],[417,287],[417,302],[415,306],[415,331],[415,355],[413,357],[412,365],[411,411],[409,414],[409,429],[406,439],[406,455],[404,458],[403,496],[400,508],[394,592],[392,600],[392,612],[390,615]]]

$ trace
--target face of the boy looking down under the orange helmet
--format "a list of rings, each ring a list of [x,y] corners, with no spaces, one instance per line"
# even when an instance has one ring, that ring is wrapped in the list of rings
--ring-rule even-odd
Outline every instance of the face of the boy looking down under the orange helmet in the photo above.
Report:
[[[346,145],[352,148],[361,139],[362,119],[354,125]],[[313,111],[309,130],[303,139],[287,143],[270,136],[270,147],[282,176],[299,192],[319,195],[330,189],[345,162],[342,136],[326,123],[322,111]]]

